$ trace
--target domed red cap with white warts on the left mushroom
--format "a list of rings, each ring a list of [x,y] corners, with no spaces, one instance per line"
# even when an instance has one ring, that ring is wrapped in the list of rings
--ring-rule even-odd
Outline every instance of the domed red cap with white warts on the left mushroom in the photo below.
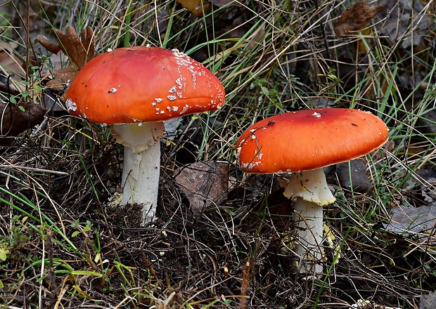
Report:
[[[217,77],[184,53],[136,46],[86,63],[70,84],[66,105],[73,116],[122,124],[217,110],[224,98]]]

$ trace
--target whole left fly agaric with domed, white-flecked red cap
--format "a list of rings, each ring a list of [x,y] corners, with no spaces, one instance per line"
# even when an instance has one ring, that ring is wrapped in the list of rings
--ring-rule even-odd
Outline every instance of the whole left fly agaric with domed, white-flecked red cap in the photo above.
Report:
[[[217,77],[177,50],[127,47],[96,56],[70,84],[65,105],[76,117],[110,126],[124,145],[121,205],[143,205],[155,217],[162,121],[217,110],[224,104]]]

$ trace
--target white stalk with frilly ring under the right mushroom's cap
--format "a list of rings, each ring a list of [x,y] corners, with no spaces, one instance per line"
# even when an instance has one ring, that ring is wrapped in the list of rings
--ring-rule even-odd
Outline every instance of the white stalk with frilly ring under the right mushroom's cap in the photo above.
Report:
[[[294,198],[300,272],[322,272],[323,206],[335,202],[323,169],[293,173],[283,195]]]

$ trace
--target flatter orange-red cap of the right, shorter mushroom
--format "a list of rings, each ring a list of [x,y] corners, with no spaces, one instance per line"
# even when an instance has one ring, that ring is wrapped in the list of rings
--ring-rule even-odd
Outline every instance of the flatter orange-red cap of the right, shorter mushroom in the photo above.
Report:
[[[385,123],[370,112],[302,110],[253,124],[239,138],[236,151],[247,173],[295,173],[364,156],[387,137]]]

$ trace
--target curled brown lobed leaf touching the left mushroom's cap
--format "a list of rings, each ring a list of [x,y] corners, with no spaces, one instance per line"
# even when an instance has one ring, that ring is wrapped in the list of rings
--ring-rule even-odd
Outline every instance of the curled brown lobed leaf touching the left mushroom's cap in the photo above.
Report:
[[[96,56],[96,43],[91,27],[86,27],[86,29],[80,32],[82,39],[79,38],[75,28],[71,26],[67,27],[65,34],[58,29],[53,29],[53,32],[56,35],[58,44],[51,43],[51,41],[43,35],[39,35],[37,38],[39,43],[41,43],[47,51],[56,54],[62,51],[70,59],[71,65],[68,65],[68,67],[52,70],[54,79],[47,83],[47,86],[62,90],[63,84],[72,81],[77,72],[79,72],[89,60]]]

